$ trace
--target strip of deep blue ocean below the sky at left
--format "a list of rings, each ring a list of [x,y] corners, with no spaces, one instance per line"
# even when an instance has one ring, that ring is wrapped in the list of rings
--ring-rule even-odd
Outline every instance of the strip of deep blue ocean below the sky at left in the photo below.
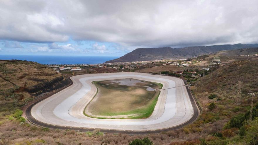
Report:
[[[43,55],[0,55],[0,60],[27,60],[40,64],[100,64],[118,57],[106,56],[43,56]]]

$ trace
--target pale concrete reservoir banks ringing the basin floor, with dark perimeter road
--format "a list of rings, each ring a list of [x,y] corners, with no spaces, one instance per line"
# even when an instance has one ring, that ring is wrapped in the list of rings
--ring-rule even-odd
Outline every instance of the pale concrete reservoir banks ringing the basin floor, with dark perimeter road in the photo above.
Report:
[[[136,120],[96,119],[83,114],[96,94],[92,81],[133,78],[162,83],[164,86],[154,112],[149,118]],[[36,102],[26,110],[26,118],[37,125],[60,129],[143,134],[177,129],[198,117],[198,108],[182,79],[144,73],[86,74],[71,77],[73,84]],[[163,90],[164,89],[164,90]]]

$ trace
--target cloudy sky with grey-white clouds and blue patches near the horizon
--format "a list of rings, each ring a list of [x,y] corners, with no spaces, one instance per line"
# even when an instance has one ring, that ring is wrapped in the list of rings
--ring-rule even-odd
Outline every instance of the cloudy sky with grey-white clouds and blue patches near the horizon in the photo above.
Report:
[[[0,54],[258,43],[257,0],[0,0]]]

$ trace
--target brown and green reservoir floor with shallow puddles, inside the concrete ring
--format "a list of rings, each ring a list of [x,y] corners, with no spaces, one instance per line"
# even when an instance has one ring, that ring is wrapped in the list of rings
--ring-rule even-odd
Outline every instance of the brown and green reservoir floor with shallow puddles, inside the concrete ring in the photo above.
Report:
[[[136,79],[93,82],[98,93],[86,107],[86,115],[97,118],[146,118],[156,105],[159,83]]]

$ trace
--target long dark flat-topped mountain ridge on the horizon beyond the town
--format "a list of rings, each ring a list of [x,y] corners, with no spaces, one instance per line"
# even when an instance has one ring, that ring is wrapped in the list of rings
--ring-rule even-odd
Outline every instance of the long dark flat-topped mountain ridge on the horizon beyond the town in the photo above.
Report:
[[[235,50],[241,48],[258,47],[258,44],[234,44],[234,45],[212,45],[212,46],[193,46],[184,48],[137,48],[122,57],[106,61],[112,62],[134,62],[134,61],[151,61],[158,59],[184,59],[197,57],[203,54],[218,52],[221,50]]]

